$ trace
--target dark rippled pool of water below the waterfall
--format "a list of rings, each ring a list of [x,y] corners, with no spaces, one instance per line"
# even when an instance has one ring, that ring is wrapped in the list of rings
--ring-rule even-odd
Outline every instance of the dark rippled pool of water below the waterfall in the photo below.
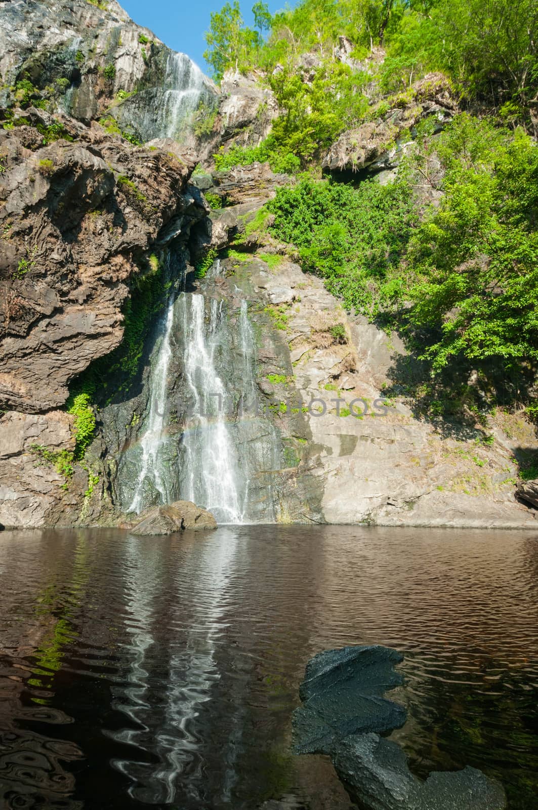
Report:
[[[349,810],[291,714],[312,655],[369,643],[406,656],[416,774],[475,765],[536,810],[538,536],[4,531],[0,807]]]

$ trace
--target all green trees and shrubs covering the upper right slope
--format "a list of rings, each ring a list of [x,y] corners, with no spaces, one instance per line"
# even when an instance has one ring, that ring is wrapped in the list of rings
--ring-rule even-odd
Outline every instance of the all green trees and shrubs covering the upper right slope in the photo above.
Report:
[[[513,401],[538,410],[538,4],[301,0],[272,17],[262,2],[253,11],[257,30],[237,2],[211,15],[206,56],[217,80],[255,70],[280,114],[259,145],[222,149],[217,168],[269,160],[296,173],[268,207],[305,270],[348,309],[397,328],[433,378],[478,369],[487,388],[494,369]],[[412,107],[412,83],[433,71],[464,112],[442,134],[428,119],[413,129],[396,181],[319,179],[339,134]]]

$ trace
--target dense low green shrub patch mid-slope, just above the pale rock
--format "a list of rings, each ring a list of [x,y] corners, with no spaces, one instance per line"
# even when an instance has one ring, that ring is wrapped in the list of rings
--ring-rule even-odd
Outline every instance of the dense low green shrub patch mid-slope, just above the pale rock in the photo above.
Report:
[[[271,232],[296,245],[303,268],[326,279],[348,309],[374,316],[395,295],[399,262],[418,219],[403,181],[365,181],[354,189],[303,179],[277,190],[267,210],[275,215]]]

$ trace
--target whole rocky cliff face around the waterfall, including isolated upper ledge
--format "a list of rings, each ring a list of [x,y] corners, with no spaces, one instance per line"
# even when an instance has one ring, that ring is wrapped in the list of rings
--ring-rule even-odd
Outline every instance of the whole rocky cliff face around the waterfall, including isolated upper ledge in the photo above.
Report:
[[[203,294],[206,326],[220,318],[211,352],[236,396],[254,394],[250,335],[263,416],[236,411],[229,433],[254,519],[536,525],[512,482],[515,448],[536,446],[526,424],[506,433],[497,420],[486,446],[463,425],[439,433],[402,397],[374,407],[404,347],[345,313],[269,235],[257,212],[290,178],[267,164],[191,178],[220,144],[267,135],[275,105],[255,77],[228,75],[219,95],[115,2],[1,3],[0,16],[0,524],[117,524],[139,475],[162,313],[182,288]],[[453,112],[433,89],[344,134],[327,170],[394,171],[409,116],[442,126]],[[225,207],[209,216],[203,190]],[[196,280],[207,251],[227,248],[220,273]],[[177,500],[193,463],[192,380],[189,310],[172,314],[163,442]],[[68,403],[88,384],[97,425],[81,454]]]

